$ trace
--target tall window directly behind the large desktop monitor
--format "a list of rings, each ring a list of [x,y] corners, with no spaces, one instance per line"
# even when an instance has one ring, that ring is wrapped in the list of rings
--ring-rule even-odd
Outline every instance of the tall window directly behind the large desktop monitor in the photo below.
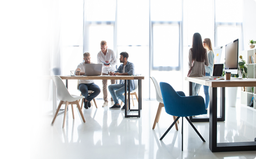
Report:
[[[225,60],[225,46],[239,39],[242,50],[242,0],[215,0],[215,46],[223,46],[221,63]]]

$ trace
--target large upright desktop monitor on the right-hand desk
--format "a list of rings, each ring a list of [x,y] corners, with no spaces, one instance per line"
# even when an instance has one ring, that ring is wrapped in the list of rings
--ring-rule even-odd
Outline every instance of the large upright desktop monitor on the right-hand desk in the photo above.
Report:
[[[238,39],[226,45],[225,72],[238,73]]]

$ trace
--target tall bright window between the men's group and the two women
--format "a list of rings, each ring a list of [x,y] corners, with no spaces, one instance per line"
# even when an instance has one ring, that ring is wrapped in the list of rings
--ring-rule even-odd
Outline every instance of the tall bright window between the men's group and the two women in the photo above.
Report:
[[[181,21],[181,1],[151,0],[153,70],[181,69]]]

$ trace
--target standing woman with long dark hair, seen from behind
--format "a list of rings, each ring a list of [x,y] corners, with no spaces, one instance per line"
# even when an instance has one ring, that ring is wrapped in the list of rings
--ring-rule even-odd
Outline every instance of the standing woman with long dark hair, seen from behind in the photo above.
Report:
[[[188,77],[205,76],[205,66],[209,65],[207,50],[203,48],[202,37],[199,33],[193,35],[192,48],[189,49]],[[196,96],[200,84],[192,83],[192,96]]]

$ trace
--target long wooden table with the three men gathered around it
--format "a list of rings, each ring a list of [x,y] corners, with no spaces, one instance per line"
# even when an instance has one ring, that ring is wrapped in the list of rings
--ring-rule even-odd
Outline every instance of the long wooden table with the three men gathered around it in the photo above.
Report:
[[[128,89],[128,100],[129,104],[127,105],[127,97],[125,96],[125,118],[129,117],[137,117],[140,118],[140,110],[142,106],[141,102],[141,79],[144,79],[144,76],[60,76],[61,79],[66,79],[66,86],[68,87],[68,79],[124,79],[125,80],[125,92],[127,92],[127,80],[128,80],[128,88],[130,88],[130,80],[138,79],[138,109],[130,109],[130,89]],[[42,76],[42,79],[52,79],[51,76]],[[128,107],[127,107],[128,106]],[[56,111],[56,86],[53,82],[53,115],[47,115],[47,113],[43,114],[42,117],[53,117]],[[61,110],[63,111],[63,110]],[[62,114],[61,112],[59,114]],[[137,111],[137,115],[129,115],[131,111]],[[58,115],[59,115],[58,114]]]

